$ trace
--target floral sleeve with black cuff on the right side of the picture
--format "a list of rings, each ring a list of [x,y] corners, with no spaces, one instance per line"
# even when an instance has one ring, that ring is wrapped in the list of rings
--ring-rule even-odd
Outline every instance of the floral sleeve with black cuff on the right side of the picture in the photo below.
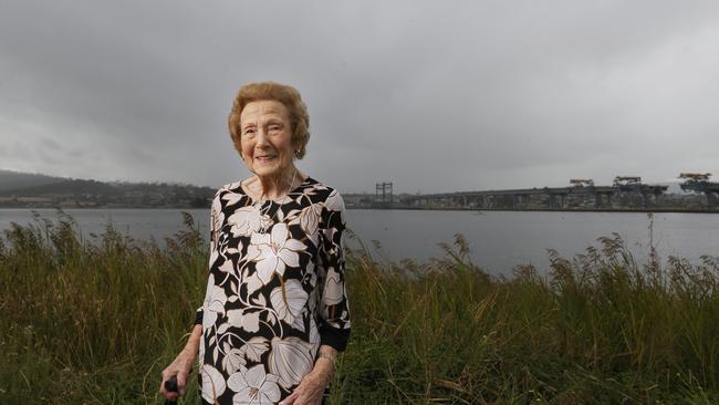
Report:
[[[317,266],[322,285],[319,300],[320,344],[343,351],[350,340],[350,302],[345,285],[343,231],[345,210],[340,194],[332,191],[321,214]]]

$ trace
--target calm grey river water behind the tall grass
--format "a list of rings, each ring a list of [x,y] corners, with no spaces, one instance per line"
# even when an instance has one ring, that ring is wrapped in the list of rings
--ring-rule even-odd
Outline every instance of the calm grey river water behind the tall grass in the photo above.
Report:
[[[155,238],[160,241],[183,228],[179,209],[65,209],[90,240],[103,232],[107,224],[134,239]],[[208,235],[209,210],[188,209]],[[52,209],[38,209],[44,218],[56,219]],[[640,212],[544,212],[544,211],[423,211],[351,209],[347,226],[366,246],[379,242],[375,257],[389,260],[411,258],[426,261],[439,257],[439,242],[451,243],[455,233],[469,242],[472,261],[490,273],[511,273],[518,264],[534,264],[545,270],[546,249],[555,249],[571,258],[596,239],[618,233],[643,261],[649,252],[649,219]],[[0,209],[0,230],[11,222],[33,221],[29,209]],[[660,258],[669,255],[698,262],[700,256],[719,256],[719,215],[654,215],[653,241]],[[356,241],[348,243],[357,246]],[[374,249],[374,248],[373,248]]]

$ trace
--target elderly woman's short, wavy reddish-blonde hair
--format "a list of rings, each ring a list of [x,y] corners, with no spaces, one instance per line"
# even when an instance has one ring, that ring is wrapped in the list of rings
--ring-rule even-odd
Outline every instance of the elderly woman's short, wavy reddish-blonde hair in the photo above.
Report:
[[[304,157],[308,142],[310,141],[310,115],[308,106],[302,102],[300,92],[292,86],[274,82],[249,83],[243,85],[232,102],[232,110],[228,118],[230,137],[237,152],[242,154],[240,144],[240,114],[251,102],[278,101],[288,108],[290,125],[292,127],[292,146],[299,150],[294,156],[301,159]]]

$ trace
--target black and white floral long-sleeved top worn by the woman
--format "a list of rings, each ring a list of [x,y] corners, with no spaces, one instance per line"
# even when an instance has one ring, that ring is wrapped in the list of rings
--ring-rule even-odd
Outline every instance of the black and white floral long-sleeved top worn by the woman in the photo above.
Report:
[[[345,349],[344,202],[308,177],[281,200],[254,202],[233,183],[212,201],[199,380],[210,404],[275,404]]]

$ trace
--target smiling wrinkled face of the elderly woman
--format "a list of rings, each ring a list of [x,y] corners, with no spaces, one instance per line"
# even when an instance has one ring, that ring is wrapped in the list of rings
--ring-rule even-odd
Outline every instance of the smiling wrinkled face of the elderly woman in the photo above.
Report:
[[[279,178],[292,167],[292,127],[284,104],[248,103],[240,114],[240,145],[247,168],[262,178]]]

